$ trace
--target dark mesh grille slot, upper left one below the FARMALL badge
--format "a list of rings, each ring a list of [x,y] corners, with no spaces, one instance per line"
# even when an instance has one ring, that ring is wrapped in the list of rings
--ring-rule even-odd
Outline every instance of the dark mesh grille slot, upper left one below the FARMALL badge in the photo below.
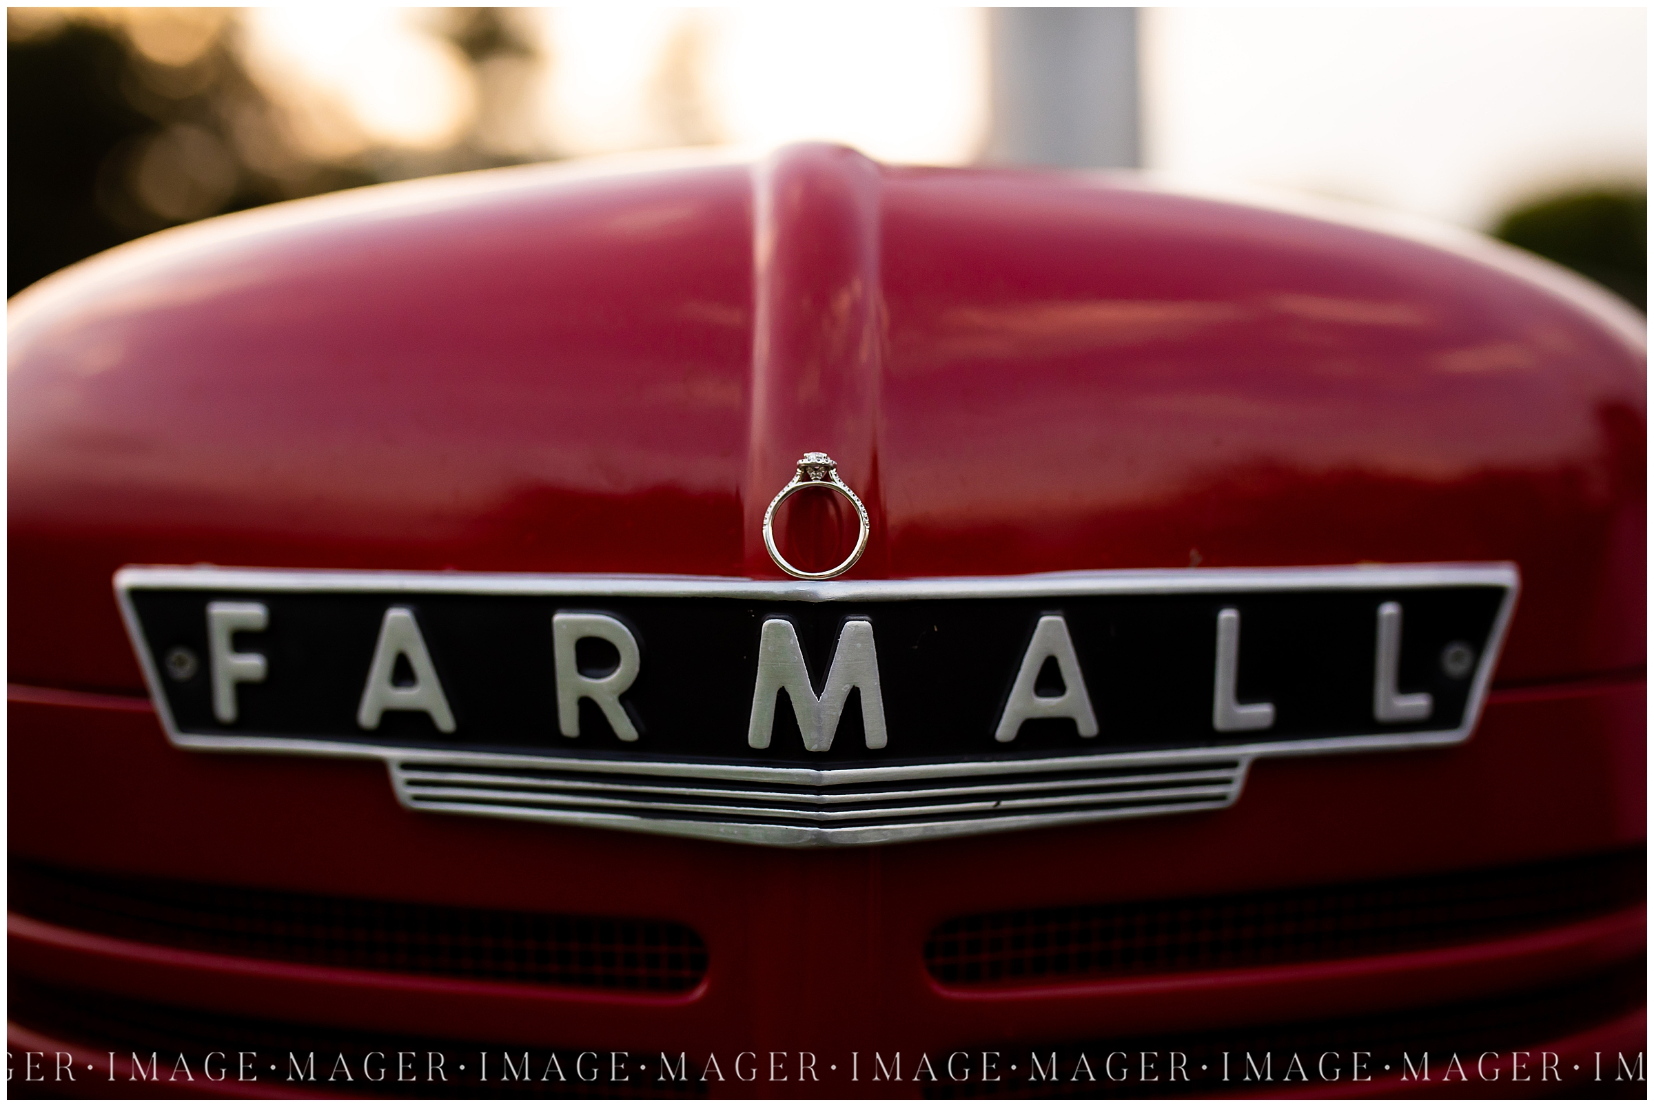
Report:
[[[392,904],[149,877],[12,859],[10,909],[151,945],[428,976],[681,993],[706,947],[676,922]]]

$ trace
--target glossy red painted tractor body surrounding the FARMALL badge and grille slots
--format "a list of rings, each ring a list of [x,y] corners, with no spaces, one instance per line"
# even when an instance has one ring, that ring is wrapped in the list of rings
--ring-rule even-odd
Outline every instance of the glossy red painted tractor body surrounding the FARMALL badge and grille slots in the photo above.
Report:
[[[12,306],[13,853],[680,919],[711,968],[638,1000],[28,919],[12,968],[339,1026],[825,1056],[1383,1011],[1634,957],[1642,915],[1621,912],[1366,962],[963,993],[921,947],[976,910],[1642,841],[1636,325],[1492,245],[835,147],[397,185],[112,251]],[[1264,762],[1224,811],[812,853],[410,813],[377,763],[175,750],[141,699],[121,565],[774,578],[758,522],[805,449],[867,502],[855,578],[1517,562],[1497,691],[1462,747]],[[792,540],[820,555],[832,530]]]

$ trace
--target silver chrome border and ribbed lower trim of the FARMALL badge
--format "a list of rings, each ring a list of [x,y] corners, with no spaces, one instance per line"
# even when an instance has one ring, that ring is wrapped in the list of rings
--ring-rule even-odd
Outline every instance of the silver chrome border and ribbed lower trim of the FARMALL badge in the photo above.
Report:
[[[369,745],[347,740],[313,740],[283,737],[225,737],[184,734],[175,725],[162,684],[155,659],[149,654],[139,628],[137,613],[131,603],[131,592],[141,588],[179,588],[179,590],[215,590],[215,592],[379,592],[379,593],[448,593],[448,595],[557,595],[557,596],[698,596],[698,598],[748,598],[774,601],[858,601],[877,603],[888,600],[916,598],[1004,598],[1004,596],[1072,596],[1072,595],[1168,595],[1168,593],[1211,593],[1211,592],[1300,592],[1300,590],[1356,590],[1356,588],[1447,588],[1460,585],[1494,585],[1505,590],[1499,615],[1494,620],[1485,649],[1477,661],[1475,677],[1465,704],[1465,715],[1459,727],[1451,730],[1426,730],[1409,734],[1373,734],[1335,739],[1308,739],[1295,742],[1236,742],[1229,745],[1206,745],[1179,750],[1135,750],[1118,753],[1090,753],[1080,757],[1037,758],[1037,760],[978,760],[978,762],[939,762],[939,763],[905,763],[890,767],[862,768],[784,768],[767,765],[715,763],[715,762],[643,762],[643,760],[600,760],[577,757],[554,757],[539,753],[495,753],[478,750],[438,750],[438,748],[404,748],[389,745]],[[1360,567],[1305,567],[1305,568],[1179,568],[1179,570],[1108,570],[1077,573],[1032,573],[1022,577],[953,577],[930,580],[830,580],[830,582],[791,582],[791,580],[738,580],[729,577],[640,577],[640,575],[556,575],[556,573],[465,573],[465,572],[377,572],[377,570],[294,570],[294,568],[218,568],[212,565],[192,567],[126,567],[114,575],[116,600],[121,616],[126,621],[127,636],[137,653],[144,679],[149,686],[151,702],[160,719],[167,740],[187,750],[217,750],[241,753],[289,753],[304,757],[347,757],[372,758],[385,762],[392,790],[399,803],[410,810],[452,811],[465,815],[488,815],[495,818],[519,818],[544,823],[569,823],[579,826],[600,826],[612,829],[650,831],[657,834],[676,834],[688,838],[706,838],[716,841],[736,841],[769,846],[849,846],[892,841],[911,841],[923,838],[951,838],[958,834],[978,834],[1001,829],[1024,829],[1034,826],[1059,826],[1111,818],[1135,818],[1143,815],[1163,815],[1174,811],[1194,811],[1224,808],[1232,805],[1242,790],[1250,763],[1259,757],[1295,757],[1315,753],[1350,753],[1361,750],[1406,750],[1454,745],[1464,742],[1480,722],[1487,704],[1487,689],[1492,682],[1499,654],[1503,649],[1517,593],[1520,592],[1520,573],[1508,562],[1497,563],[1452,563],[1452,565],[1360,565]],[[1229,762],[1236,768],[1219,765]],[[691,810],[706,810],[719,815],[726,821],[701,821],[683,818],[652,818],[645,815],[607,813],[587,810],[546,810],[536,806],[509,806],[509,796],[551,800],[552,793],[534,791],[534,785],[514,780],[509,791],[488,788],[455,788],[453,791],[491,795],[506,803],[476,803],[452,800],[417,798],[412,791],[422,791],[417,785],[409,790],[407,775],[422,772],[442,772],[442,768],[478,767],[491,770],[539,770],[549,773],[582,773],[582,775],[622,775],[637,778],[635,791],[673,791],[686,793],[685,798],[700,795],[713,798],[711,790],[650,786],[650,780],[668,778],[676,782],[751,782],[767,785],[791,785],[802,788],[855,786],[875,782],[935,782],[936,788],[916,786],[911,791],[867,793],[865,798],[853,800],[839,795],[819,798],[787,796],[791,803],[809,801],[812,805],[834,805],[850,801],[893,800],[900,796],[964,796],[971,793],[987,793],[1002,790],[1050,790],[1050,788],[1097,788],[1105,783],[1125,783],[1125,778],[1092,778],[1087,783],[1077,780],[1035,780],[1016,783],[1014,780],[969,785],[971,778],[1019,775],[1062,775],[1082,773],[1107,768],[1136,767],[1143,770],[1183,770],[1201,773],[1206,765],[1207,777],[1226,777],[1231,772],[1232,785],[1212,783],[1184,786],[1178,791],[1201,793],[1188,795],[1184,801],[1174,801],[1173,788],[1146,788],[1136,793],[1120,791],[1080,791],[1067,796],[1044,796],[1040,801],[1052,805],[1123,801],[1128,796],[1169,800],[1148,803],[1145,806],[1105,806],[1103,810],[1052,811],[1052,813],[1017,813],[1017,815],[979,815],[954,820],[923,818],[936,811],[935,805],[883,806],[862,811],[824,811],[814,813],[820,818],[888,818],[890,823],[880,826],[787,826],[779,823],[738,821],[741,813],[751,818],[809,821],[804,811],[786,808],[744,808],[719,805],[681,805]],[[422,770],[422,767],[432,767]],[[480,783],[470,773],[458,773],[470,783]],[[1143,777],[1135,782],[1150,783]],[[504,782],[501,782],[504,783]],[[1166,783],[1171,783],[1169,780]],[[605,788],[627,790],[624,783],[589,785],[582,782],[543,782],[546,788],[566,788],[571,791],[602,791]],[[1194,785],[1194,782],[1188,782]],[[1211,795],[1217,793],[1217,795]],[[719,795],[728,795],[721,791]],[[746,800],[767,800],[756,791],[741,791]],[[471,795],[471,800],[476,796]],[[597,798],[594,795],[566,796],[571,805],[615,803],[614,798]],[[1034,803],[1030,796],[1025,803]],[[1019,801],[1021,806],[1022,801]],[[953,803],[951,808],[979,810],[987,806],[992,811],[1006,811],[1006,803],[994,803],[991,798],[971,803]],[[667,810],[665,805],[638,805],[645,810]],[[676,805],[675,805],[676,806]]]

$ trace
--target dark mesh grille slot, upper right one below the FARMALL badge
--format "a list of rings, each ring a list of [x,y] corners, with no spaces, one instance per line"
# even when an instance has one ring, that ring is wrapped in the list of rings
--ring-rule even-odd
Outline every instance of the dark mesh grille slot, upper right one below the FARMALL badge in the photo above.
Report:
[[[1646,851],[1374,884],[1009,910],[931,932],[946,985],[1176,973],[1459,945],[1644,902]]]

